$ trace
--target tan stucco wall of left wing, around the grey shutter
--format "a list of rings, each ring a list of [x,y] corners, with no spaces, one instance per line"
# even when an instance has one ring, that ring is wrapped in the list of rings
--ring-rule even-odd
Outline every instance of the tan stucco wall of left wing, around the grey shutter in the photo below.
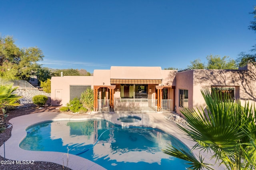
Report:
[[[70,85],[84,85],[93,88],[93,76],[63,76],[51,78],[52,106],[66,106],[70,101]]]

